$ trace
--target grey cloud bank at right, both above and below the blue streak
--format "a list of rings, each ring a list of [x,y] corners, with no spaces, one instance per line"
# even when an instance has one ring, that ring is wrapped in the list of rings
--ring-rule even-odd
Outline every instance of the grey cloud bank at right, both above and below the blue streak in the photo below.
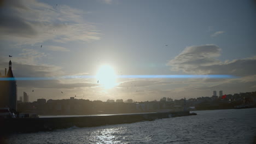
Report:
[[[186,74],[235,75],[236,79],[197,79],[187,82],[188,85],[174,88],[174,92],[182,95],[211,97],[213,90],[223,90],[226,94],[255,91],[256,56],[232,61],[219,61],[221,49],[217,45],[200,45],[186,47],[178,56],[171,59],[167,65],[173,71]],[[175,93],[174,93],[175,95]],[[186,97],[187,97],[186,96]]]

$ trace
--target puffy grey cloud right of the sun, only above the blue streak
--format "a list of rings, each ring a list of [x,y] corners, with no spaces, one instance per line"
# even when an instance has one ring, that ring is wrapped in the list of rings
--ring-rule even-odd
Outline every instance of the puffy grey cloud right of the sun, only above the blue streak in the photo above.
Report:
[[[256,57],[221,62],[216,58],[220,56],[220,51],[221,49],[213,44],[186,47],[167,65],[171,65],[171,70],[183,71],[187,74],[227,74],[236,76],[255,74]]]

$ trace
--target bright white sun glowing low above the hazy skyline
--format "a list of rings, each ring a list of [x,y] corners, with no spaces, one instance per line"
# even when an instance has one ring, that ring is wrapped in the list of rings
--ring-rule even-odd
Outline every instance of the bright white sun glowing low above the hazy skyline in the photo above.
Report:
[[[115,75],[114,69],[109,65],[102,65],[100,69],[98,69],[96,79],[98,80],[98,83],[105,88],[112,88],[117,85],[117,75]]]

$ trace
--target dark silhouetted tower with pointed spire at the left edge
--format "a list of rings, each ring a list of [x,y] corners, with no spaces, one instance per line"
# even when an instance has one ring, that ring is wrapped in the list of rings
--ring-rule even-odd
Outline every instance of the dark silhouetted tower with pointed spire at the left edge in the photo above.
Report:
[[[9,70],[5,68],[5,74],[0,78],[0,107],[9,107],[11,110],[17,110],[17,84],[11,70],[11,61],[9,61]]]

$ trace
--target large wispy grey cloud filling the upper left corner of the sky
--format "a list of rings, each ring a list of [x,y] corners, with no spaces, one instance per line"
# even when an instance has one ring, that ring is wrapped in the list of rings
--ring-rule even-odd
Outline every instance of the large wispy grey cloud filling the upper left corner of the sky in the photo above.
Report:
[[[19,44],[100,39],[94,24],[83,19],[84,14],[83,10],[67,5],[51,6],[36,0],[4,1],[0,39]]]

